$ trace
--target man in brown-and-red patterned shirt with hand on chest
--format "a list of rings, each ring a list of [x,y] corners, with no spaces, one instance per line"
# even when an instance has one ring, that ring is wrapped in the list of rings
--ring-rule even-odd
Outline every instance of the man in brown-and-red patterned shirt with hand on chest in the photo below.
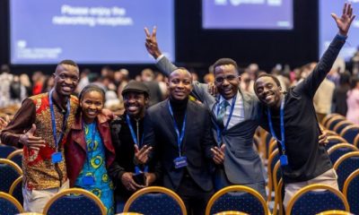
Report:
[[[54,77],[54,88],[25,99],[1,133],[4,144],[23,146],[22,195],[28,212],[41,213],[52,196],[69,187],[64,144],[78,107],[71,94],[79,81],[79,68],[72,60],[61,61]]]

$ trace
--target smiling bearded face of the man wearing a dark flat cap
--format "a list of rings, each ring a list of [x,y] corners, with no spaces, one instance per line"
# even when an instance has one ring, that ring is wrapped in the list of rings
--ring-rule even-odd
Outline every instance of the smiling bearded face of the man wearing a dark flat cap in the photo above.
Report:
[[[128,91],[125,93],[124,106],[128,116],[142,118],[144,116],[145,107],[148,104],[148,97],[143,92]]]

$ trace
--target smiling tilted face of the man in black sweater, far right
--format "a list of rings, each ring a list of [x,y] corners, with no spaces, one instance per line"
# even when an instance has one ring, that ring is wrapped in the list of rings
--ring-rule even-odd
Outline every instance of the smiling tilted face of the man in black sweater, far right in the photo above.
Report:
[[[259,77],[254,83],[254,91],[258,99],[267,107],[280,107],[283,92],[273,77]]]

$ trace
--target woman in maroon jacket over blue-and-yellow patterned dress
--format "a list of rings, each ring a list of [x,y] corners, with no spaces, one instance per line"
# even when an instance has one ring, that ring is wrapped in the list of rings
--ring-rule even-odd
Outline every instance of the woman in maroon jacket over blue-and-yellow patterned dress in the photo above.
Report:
[[[101,199],[114,214],[113,184],[108,168],[115,159],[108,118],[101,114],[105,91],[91,84],[79,96],[81,111],[65,144],[67,176],[71,187],[81,187]]]

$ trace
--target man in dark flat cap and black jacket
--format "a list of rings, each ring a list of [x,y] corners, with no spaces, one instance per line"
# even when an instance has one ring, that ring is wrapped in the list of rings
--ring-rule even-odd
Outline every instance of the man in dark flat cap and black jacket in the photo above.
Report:
[[[122,96],[125,113],[114,119],[110,125],[116,159],[109,168],[109,176],[116,185],[116,212],[123,211],[131,194],[144,186],[152,185],[159,177],[153,173],[153,168],[134,163],[135,158],[146,159],[152,150],[152,147],[142,144],[149,90],[143,82],[131,81],[122,90]]]

